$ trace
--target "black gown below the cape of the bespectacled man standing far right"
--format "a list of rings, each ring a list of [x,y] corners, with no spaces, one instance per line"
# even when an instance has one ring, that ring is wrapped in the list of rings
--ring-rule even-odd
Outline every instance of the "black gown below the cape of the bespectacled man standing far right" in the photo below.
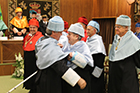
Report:
[[[108,93],[139,93],[136,66],[140,68],[140,50],[123,60],[110,61]]]

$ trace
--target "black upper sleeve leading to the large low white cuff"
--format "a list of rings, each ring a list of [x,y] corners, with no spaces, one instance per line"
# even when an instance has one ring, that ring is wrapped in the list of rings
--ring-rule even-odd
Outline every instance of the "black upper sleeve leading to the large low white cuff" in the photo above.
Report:
[[[62,76],[69,69],[69,67],[66,65],[66,62],[66,58],[57,61],[51,66],[51,68],[54,69],[58,75]]]

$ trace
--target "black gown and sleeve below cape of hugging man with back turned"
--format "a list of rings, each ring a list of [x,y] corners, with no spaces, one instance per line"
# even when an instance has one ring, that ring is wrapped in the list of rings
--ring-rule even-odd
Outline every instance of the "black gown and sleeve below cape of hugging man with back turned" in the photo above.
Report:
[[[66,62],[66,58],[62,59],[37,73],[37,93],[62,93],[61,77],[68,70]]]

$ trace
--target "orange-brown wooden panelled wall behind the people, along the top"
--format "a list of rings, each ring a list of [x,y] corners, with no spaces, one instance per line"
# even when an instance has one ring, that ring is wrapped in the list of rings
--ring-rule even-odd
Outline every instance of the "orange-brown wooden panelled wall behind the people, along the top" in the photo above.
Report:
[[[8,0],[0,0],[3,19],[8,25]],[[131,7],[132,6],[132,7]],[[129,5],[127,0],[60,0],[60,16],[69,24],[77,22],[78,17],[92,18],[117,17],[126,14],[133,17],[134,6]],[[132,30],[134,30],[132,20]]]

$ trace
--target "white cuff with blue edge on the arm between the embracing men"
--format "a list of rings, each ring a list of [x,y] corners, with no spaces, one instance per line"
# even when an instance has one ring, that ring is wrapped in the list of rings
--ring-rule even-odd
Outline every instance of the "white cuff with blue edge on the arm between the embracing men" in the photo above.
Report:
[[[87,65],[85,57],[77,51],[72,53],[71,61],[80,68],[85,68]]]

